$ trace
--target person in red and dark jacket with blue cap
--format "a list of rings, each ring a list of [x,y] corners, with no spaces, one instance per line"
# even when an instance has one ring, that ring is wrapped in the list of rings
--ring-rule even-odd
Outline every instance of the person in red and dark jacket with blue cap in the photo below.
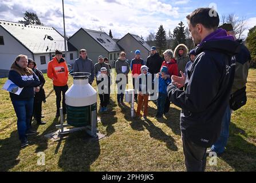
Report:
[[[135,51],[135,58],[131,61],[131,70],[132,70],[132,85],[135,89],[135,82],[137,77],[141,74],[140,67],[144,65],[143,59],[140,58],[140,50]],[[136,91],[136,90],[135,90]],[[137,102],[137,93],[134,94],[134,100]]]

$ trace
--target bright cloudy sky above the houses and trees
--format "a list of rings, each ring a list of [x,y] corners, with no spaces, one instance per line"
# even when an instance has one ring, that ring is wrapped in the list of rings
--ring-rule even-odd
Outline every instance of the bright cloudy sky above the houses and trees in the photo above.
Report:
[[[214,3],[220,15],[234,13],[247,19],[247,27],[256,25],[256,2],[244,1],[196,1],[196,0],[64,0],[66,34],[73,35],[81,27],[103,30],[115,38],[133,33],[145,39],[149,33],[156,33],[163,25],[168,32],[180,21],[185,25],[186,15],[198,7],[209,7]],[[0,19],[17,22],[25,11],[37,13],[41,22],[53,26],[63,33],[61,0],[5,0],[0,2]],[[247,35],[245,31],[245,35]]]

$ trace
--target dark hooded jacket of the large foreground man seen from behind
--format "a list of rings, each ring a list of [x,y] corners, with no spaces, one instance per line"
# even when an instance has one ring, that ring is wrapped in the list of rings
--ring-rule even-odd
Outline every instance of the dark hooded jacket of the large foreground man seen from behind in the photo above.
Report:
[[[238,43],[225,30],[218,29],[204,38],[195,53],[188,68],[186,91],[171,84],[167,92],[169,100],[182,108],[180,128],[184,137],[207,148],[218,139],[229,105],[235,74],[233,55],[238,53]]]

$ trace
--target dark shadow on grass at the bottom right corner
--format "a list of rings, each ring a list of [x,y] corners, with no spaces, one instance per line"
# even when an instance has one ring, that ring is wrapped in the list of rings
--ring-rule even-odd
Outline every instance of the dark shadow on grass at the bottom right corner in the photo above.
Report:
[[[235,171],[255,171],[256,146],[247,142],[241,135],[250,138],[247,137],[244,130],[231,122],[229,142],[220,158],[226,161]]]

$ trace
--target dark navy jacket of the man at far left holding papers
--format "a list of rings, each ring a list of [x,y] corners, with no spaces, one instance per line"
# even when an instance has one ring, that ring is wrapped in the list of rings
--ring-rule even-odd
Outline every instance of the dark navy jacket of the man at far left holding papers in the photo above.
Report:
[[[18,87],[23,87],[19,95],[9,92],[12,101],[26,101],[34,98],[34,87],[39,86],[40,81],[31,69],[28,67],[22,69],[14,61],[13,65],[11,65],[8,78]]]

